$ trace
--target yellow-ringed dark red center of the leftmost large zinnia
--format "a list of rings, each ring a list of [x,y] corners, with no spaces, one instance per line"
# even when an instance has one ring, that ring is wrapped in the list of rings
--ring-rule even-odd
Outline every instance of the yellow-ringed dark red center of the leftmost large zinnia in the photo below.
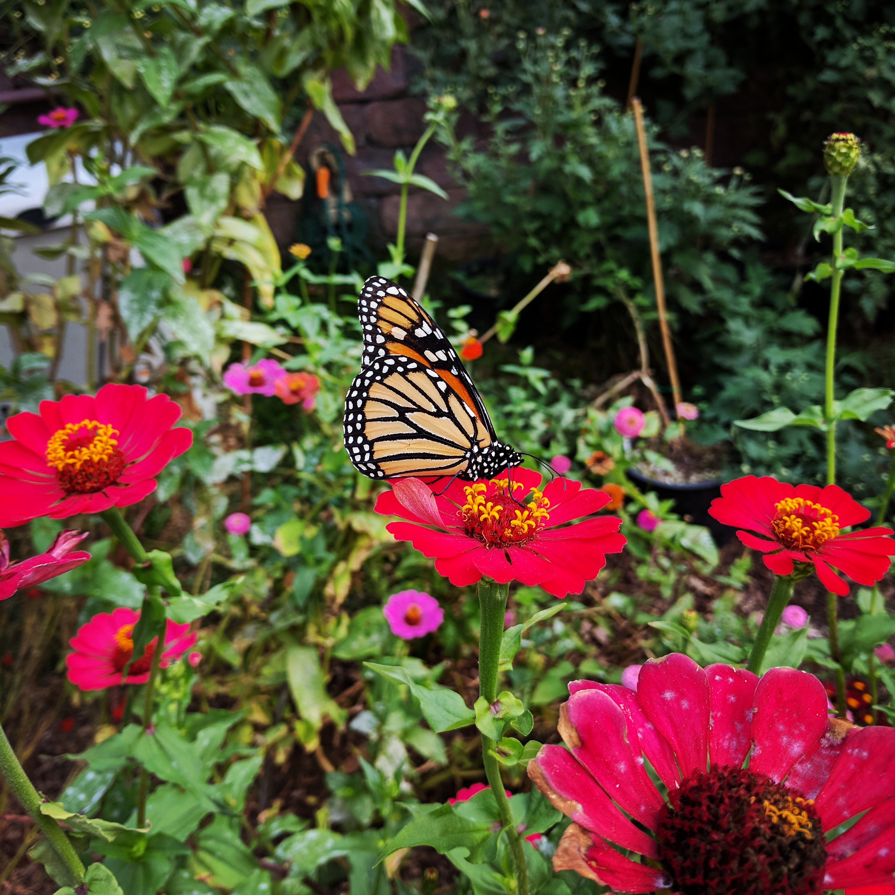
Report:
[[[69,494],[92,494],[116,482],[126,460],[113,437],[117,429],[96,420],[69,422],[47,441],[47,465]]]

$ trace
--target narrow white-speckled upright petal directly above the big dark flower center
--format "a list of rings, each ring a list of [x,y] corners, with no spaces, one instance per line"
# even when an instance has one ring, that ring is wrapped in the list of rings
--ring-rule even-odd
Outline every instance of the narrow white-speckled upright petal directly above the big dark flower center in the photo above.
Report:
[[[709,761],[740,768],[752,747],[752,706],[758,678],[746,669],[710,665]],[[638,682],[639,684],[639,682]]]

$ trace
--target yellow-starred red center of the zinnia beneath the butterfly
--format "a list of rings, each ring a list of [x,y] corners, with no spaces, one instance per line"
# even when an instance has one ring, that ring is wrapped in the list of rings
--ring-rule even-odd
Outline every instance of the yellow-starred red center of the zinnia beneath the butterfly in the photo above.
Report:
[[[489,485],[475,482],[464,489],[466,503],[461,513],[466,533],[486,547],[531,541],[550,518],[550,500],[541,491],[533,490],[532,499],[527,504],[520,503],[510,493],[509,479],[491,479]],[[513,482],[512,487],[522,492],[520,497],[524,496],[522,482]]]

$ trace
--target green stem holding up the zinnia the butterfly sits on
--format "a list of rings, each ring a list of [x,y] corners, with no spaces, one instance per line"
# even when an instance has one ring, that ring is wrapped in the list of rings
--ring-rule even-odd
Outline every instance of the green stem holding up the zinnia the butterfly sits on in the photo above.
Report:
[[[483,577],[479,582],[479,607],[482,626],[479,632],[479,695],[489,703],[498,698],[498,666],[500,641],[503,639],[504,616],[507,612],[509,584],[498,584],[493,578]],[[513,812],[510,810],[507,790],[500,779],[500,765],[491,754],[496,744],[490,737],[482,736],[482,762],[488,776],[491,792],[498,803],[500,821],[507,832],[510,848],[516,860],[517,895],[528,895],[528,868],[522,839],[516,830]]]

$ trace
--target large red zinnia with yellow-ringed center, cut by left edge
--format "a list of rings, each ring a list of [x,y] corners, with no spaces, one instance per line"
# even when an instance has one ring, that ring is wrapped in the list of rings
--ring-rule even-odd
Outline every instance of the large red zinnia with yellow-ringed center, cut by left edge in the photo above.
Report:
[[[172,428],[180,405],[147,399],[142,386],[109,384],[38,410],[6,421],[14,440],[0,443],[0,526],[128,507],[192,445],[189,429]]]

